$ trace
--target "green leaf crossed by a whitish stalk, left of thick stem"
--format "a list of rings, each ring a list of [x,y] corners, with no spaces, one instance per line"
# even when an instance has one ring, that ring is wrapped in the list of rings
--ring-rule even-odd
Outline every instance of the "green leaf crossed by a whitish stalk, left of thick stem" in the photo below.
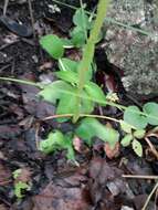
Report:
[[[70,59],[63,57],[59,61],[59,69],[61,71],[72,71],[77,72],[78,63],[76,61],[72,61]]]

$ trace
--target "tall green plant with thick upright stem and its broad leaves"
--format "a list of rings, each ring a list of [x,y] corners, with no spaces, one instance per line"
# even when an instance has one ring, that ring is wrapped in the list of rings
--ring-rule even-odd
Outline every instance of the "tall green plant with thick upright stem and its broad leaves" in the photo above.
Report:
[[[60,71],[57,71],[55,75],[60,80],[48,85],[39,93],[39,95],[51,103],[56,103],[59,101],[56,114],[64,115],[72,113],[73,123],[77,122],[81,114],[89,114],[93,112],[95,107],[93,98],[98,102],[106,101],[106,96],[102,88],[92,82],[92,75],[94,71],[93,57],[95,44],[97,43],[101,34],[101,28],[104,22],[108,2],[109,1],[107,0],[99,1],[95,21],[93,21],[92,17],[85,13],[82,1],[81,9],[76,10],[73,17],[75,28],[70,33],[71,40],[69,40],[69,43],[71,43],[72,46],[82,48],[83,56],[80,62],[63,57],[65,40],[53,34],[45,35],[40,40],[42,48],[53,59],[59,60]],[[61,93],[61,90],[64,90],[64,93]],[[71,95],[70,92],[72,93]],[[101,105],[104,104],[101,103]],[[67,120],[67,118],[63,118],[62,120]],[[92,134],[87,134],[85,132],[88,129],[88,126],[95,128]],[[85,138],[88,145],[94,136],[99,136],[103,140],[109,141],[112,146],[114,146],[118,140],[118,133],[115,129],[107,128],[97,122],[97,119],[92,118],[83,119],[76,129],[76,134],[77,136]],[[108,134],[110,134],[109,137],[107,137]],[[73,154],[71,148],[72,143],[70,140],[65,140],[65,138],[67,138],[67,135],[65,136],[57,130],[55,133],[51,133],[48,139],[41,143],[41,150],[51,153],[55,149],[64,148],[69,151],[69,158],[74,159],[74,156],[70,155],[70,151]],[[59,139],[59,143],[56,139]],[[69,144],[67,146],[65,144],[66,141],[71,143],[71,145]]]

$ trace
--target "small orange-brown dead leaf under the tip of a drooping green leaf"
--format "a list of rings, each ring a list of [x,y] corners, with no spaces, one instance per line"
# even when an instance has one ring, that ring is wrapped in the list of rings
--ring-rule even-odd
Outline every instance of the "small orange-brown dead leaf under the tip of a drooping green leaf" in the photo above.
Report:
[[[104,145],[104,150],[106,153],[106,156],[109,159],[113,159],[113,158],[116,158],[119,156],[119,148],[120,148],[119,143],[116,143],[114,149],[112,149],[112,147],[109,146],[108,143],[105,143],[105,145]]]

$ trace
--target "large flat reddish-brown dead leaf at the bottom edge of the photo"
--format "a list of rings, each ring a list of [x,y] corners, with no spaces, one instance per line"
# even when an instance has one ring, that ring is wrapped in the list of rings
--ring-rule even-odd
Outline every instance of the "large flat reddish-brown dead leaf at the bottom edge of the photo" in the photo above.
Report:
[[[89,192],[82,181],[84,176],[73,176],[55,179],[33,198],[33,210],[88,210]]]

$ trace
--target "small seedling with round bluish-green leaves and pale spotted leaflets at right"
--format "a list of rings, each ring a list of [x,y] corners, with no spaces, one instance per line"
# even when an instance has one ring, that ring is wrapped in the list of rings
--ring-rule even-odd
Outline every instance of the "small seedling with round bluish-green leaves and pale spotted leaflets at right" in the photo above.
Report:
[[[143,106],[144,113],[137,106],[128,106],[122,120],[122,129],[127,133],[122,139],[122,145],[127,147],[131,144],[134,151],[141,157],[143,147],[138,139],[146,135],[147,125],[158,125],[158,104],[154,102],[146,103]]]

